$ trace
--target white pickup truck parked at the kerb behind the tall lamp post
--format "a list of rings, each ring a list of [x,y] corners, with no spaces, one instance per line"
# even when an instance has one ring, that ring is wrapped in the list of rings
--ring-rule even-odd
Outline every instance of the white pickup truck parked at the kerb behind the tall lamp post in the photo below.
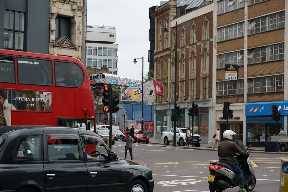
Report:
[[[186,145],[186,128],[176,128],[176,138],[178,145]],[[190,130],[190,133],[192,133],[192,130]],[[172,138],[174,136],[174,128],[170,127],[162,132],[162,140],[164,141],[164,145],[169,145],[170,142],[172,142]],[[190,139],[190,144],[192,143],[192,140]],[[201,143],[201,137],[198,134],[193,135],[193,145],[195,147],[200,147]]]

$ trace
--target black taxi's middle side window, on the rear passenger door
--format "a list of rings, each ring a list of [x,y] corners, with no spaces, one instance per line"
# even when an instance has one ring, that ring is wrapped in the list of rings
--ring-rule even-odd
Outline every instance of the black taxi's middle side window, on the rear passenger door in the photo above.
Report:
[[[48,161],[79,161],[78,135],[48,134]]]

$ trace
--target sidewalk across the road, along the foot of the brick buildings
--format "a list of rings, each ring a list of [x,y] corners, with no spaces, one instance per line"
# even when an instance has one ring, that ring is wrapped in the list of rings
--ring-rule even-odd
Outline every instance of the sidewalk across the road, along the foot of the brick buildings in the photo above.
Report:
[[[155,138],[150,138],[149,140],[149,143],[153,143],[153,144],[158,144],[160,146],[163,145],[163,147],[165,146],[164,145],[164,142],[163,140],[160,140],[160,139],[155,139]],[[173,145],[172,142],[170,142],[169,145],[166,145],[165,147],[175,147]],[[217,147],[218,147],[218,144],[215,145],[214,149],[212,149],[213,147],[213,144],[204,144],[204,143],[201,143],[200,147],[192,147],[191,145],[189,147],[186,147],[186,146],[179,146],[177,144],[176,147],[182,147],[182,148],[187,148],[187,149],[200,149],[200,150],[209,150],[209,151],[217,151]],[[245,147],[246,149],[247,147]],[[265,147],[251,147],[248,149],[249,152],[252,152],[252,153],[270,153],[270,154],[280,154],[280,153],[284,153],[284,154],[287,154],[287,152],[265,152]]]

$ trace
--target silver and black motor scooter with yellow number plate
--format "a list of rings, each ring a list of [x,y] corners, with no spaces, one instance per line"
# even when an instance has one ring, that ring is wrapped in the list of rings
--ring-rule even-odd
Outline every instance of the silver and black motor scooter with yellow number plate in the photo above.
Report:
[[[245,149],[241,140],[235,140],[235,143],[244,151],[251,147],[251,145],[249,145],[247,149]],[[242,156],[238,153],[235,153],[234,155],[236,156],[235,158],[239,162],[239,167],[243,172],[244,187],[247,191],[252,191],[256,185],[256,178],[251,161],[249,157]],[[207,181],[209,183],[210,192],[222,192],[227,188],[239,186],[238,176],[229,164],[225,162],[211,162],[209,165],[209,171],[210,175],[208,175]]]

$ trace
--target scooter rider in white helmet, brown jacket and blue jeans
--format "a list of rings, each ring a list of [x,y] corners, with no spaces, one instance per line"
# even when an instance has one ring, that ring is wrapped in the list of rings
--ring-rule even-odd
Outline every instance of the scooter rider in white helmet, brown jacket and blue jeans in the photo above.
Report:
[[[234,169],[238,175],[238,184],[240,186],[238,191],[247,192],[246,189],[244,189],[243,172],[238,166],[238,161],[234,158],[234,153],[236,152],[243,156],[248,156],[249,153],[240,149],[240,147],[238,147],[236,143],[232,141],[232,137],[234,138],[234,135],[236,135],[236,133],[232,130],[226,130],[223,132],[224,141],[222,141],[218,146],[218,156],[220,157],[219,162],[226,162]]]

